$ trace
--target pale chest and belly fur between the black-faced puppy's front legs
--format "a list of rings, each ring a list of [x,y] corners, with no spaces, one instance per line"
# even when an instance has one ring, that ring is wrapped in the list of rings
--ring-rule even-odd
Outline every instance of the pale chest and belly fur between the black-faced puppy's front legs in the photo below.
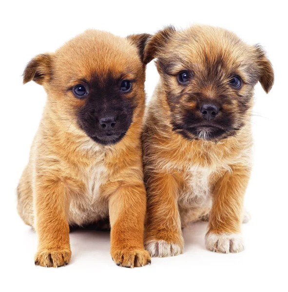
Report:
[[[82,169],[83,188],[71,197],[71,224],[85,225],[108,217],[108,201],[101,192],[101,185],[107,180],[105,164]]]

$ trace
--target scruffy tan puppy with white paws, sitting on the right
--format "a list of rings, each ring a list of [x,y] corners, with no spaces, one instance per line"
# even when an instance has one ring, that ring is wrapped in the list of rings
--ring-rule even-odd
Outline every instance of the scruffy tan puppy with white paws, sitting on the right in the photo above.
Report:
[[[250,177],[253,88],[274,76],[259,46],[221,28],[167,27],[145,60],[160,74],[143,135],[151,256],[183,252],[181,226],[209,218],[206,247],[243,250],[243,197]]]

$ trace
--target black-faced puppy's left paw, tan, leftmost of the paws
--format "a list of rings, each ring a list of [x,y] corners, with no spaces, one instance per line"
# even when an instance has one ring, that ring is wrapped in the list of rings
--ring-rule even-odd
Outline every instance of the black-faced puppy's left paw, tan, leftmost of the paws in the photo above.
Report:
[[[66,266],[71,258],[70,249],[42,249],[35,254],[34,260],[36,266],[58,268]]]

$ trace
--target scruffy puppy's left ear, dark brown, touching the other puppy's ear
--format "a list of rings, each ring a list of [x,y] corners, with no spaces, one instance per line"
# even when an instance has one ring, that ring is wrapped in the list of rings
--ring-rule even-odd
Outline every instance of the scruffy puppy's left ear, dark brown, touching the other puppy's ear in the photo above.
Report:
[[[151,37],[144,49],[144,62],[149,63],[158,56],[161,49],[167,44],[168,40],[175,33],[173,25],[166,26],[163,30],[158,31],[153,37]]]

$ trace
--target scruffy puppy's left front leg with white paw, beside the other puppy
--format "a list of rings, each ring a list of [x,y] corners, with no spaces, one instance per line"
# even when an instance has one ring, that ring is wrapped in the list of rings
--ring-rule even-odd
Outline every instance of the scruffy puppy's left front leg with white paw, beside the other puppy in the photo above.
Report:
[[[178,184],[171,174],[150,174],[145,248],[151,256],[177,256],[183,252],[177,191]]]

